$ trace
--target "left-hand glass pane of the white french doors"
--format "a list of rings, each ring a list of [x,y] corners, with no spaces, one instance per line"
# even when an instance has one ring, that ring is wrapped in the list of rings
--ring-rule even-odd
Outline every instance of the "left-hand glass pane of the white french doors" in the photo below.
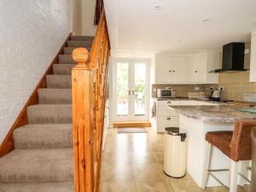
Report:
[[[116,70],[116,114],[119,118],[128,117],[130,101],[128,62],[118,62]]]

